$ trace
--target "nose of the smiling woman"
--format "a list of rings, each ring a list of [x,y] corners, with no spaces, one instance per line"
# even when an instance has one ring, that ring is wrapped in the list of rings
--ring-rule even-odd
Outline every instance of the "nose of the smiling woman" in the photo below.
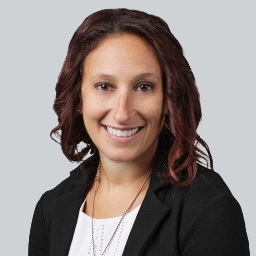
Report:
[[[114,120],[120,124],[126,124],[130,119],[134,117],[135,110],[133,105],[133,98],[130,93],[125,91],[121,92],[117,98],[112,108],[112,115]]]

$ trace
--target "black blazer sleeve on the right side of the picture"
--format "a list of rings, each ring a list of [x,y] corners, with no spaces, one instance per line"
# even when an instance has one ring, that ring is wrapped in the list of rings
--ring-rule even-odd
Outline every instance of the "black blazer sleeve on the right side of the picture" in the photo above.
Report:
[[[188,224],[181,248],[182,256],[250,256],[237,200],[226,193],[211,199]]]

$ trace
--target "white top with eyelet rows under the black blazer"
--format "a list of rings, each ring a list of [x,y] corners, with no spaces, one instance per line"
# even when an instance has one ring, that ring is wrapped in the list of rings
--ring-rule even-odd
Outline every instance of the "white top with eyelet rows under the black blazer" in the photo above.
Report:
[[[84,206],[85,201],[79,210],[68,256],[93,256],[91,217],[83,212]],[[117,232],[103,256],[122,256],[124,246],[140,206],[137,206],[123,217]],[[93,219],[96,256],[100,256],[105,250],[121,218],[122,216],[108,219]]]

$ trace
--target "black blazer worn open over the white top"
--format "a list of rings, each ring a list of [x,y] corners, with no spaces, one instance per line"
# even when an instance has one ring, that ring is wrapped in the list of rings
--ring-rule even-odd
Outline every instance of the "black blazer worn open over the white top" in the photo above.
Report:
[[[29,256],[68,256],[86,185],[78,167],[37,202]],[[152,175],[122,256],[249,256],[242,209],[219,174],[197,164],[187,188]],[[165,182],[165,183],[164,183]],[[90,227],[88,227],[90,232]]]

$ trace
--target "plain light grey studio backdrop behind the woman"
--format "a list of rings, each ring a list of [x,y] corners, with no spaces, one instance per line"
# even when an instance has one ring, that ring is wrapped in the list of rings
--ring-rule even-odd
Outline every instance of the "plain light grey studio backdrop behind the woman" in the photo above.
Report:
[[[27,255],[37,201],[78,165],[49,136],[57,125],[55,85],[77,27],[109,8],[157,15],[181,43],[200,93],[197,132],[210,148],[214,170],[242,207],[256,255],[256,9],[246,0],[1,3],[0,255]]]

